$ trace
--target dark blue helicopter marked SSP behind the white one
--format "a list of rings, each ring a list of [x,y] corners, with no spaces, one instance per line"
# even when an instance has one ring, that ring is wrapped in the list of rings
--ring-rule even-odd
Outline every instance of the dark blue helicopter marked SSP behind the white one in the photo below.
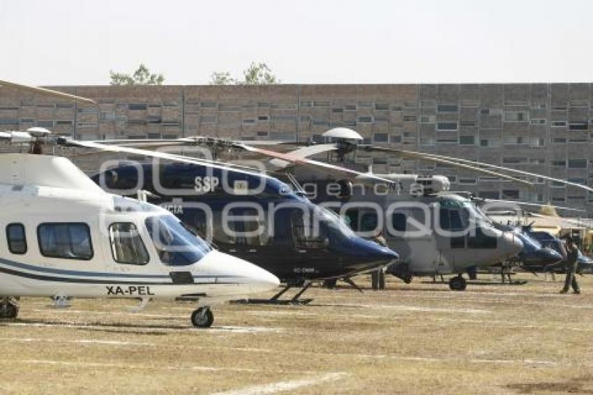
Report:
[[[343,278],[395,262],[389,248],[356,236],[343,220],[306,195],[266,174],[227,163],[94,142],[63,139],[66,147],[144,155],[172,163],[119,165],[95,174],[102,188],[160,204],[225,253],[270,271],[292,287]],[[354,285],[354,283],[352,283]],[[310,299],[301,301],[306,303]]]

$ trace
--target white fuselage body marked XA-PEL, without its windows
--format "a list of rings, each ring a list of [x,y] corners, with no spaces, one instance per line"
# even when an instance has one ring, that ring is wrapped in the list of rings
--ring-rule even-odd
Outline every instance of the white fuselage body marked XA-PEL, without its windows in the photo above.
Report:
[[[278,278],[260,267],[210,248],[204,248],[195,262],[163,263],[162,251],[160,255],[145,221],[155,216],[174,216],[151,204],[103,192],[65,158],[6,154],[0,156],[0,169],[2,296],[199,297],[223,301],[278,285]],[[114,223],[133,224],[137,229],[145,248],[142,264],[116,261],[114,239],[110,237]],[[24,253],[22,249],[13,252],[15,241],[7,234],[10,224],[20,224],[18,228],[24,229]],[[64,225],[60,232],[70,234],[61,237],[70,237],[72,245],[56,246],[60,243],[55,240],[57,233],[47,236],[43,227],[57,224],[83,224],[89,238],[71,234],[73,230]],[[84,259],[50,256],[53,253],[43,251],[49,248],[47,244],[64,251],[82,249],[91,253]]]

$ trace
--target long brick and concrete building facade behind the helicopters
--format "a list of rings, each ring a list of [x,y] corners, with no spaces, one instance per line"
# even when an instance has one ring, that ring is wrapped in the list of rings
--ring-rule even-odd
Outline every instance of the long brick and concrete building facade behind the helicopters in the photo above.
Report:
[[[0,130],[43,126],[80,140],[208,135],[319,140],[352,128],[367,143],[516,167],[593,186],[592,84],[345,84],[53,87],[98,107],[0,88]],[[593,214],[593,194],[544,183],[522,188],[398,157],[357,161],[375,172],[449,176],[456,191],[551,202]]]

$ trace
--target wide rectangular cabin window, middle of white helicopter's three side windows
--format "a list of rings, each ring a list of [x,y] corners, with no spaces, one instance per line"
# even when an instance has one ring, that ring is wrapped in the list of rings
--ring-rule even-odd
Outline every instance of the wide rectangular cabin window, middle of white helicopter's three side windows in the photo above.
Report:
[[[86,223],[42,223],[37,228],[39,251],[47,258],[90,260],[91,230]]]

